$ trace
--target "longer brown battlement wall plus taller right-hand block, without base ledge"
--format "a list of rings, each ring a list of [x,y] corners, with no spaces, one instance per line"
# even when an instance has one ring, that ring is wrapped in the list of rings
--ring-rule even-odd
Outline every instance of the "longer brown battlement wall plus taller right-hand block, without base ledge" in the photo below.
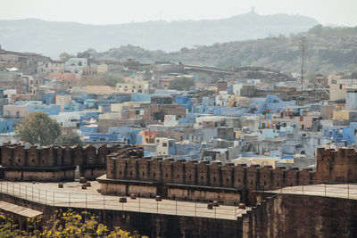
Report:
[[[129,147],[108,155],[109,179],[154,181],[161,184],[199,185],[247,190],[271,190],[285,186],[357,180],[354,149],[318,149],[317,170],[271,168],[196,160],[146,158],[141,148]]]

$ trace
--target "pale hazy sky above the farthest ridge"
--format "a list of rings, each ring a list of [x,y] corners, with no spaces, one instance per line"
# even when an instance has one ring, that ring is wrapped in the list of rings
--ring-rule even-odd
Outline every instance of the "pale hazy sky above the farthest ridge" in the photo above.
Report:
[[[0,19],[38,18],[114,24],[218,19],[249,12],[310,16],[327,25],[357,26],[357,0],[0,0]]]

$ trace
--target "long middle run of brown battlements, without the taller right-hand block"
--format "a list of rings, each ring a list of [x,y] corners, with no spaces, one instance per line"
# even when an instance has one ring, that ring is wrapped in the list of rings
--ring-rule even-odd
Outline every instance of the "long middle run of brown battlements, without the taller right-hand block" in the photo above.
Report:
[[[107,156],[109,179],[148,181],[162,185],[195,185],[232,189],[274,190],[316,183],[315,172],[305,168],[272,168],[198,160],[146,158],[142,148],[121,148]]]

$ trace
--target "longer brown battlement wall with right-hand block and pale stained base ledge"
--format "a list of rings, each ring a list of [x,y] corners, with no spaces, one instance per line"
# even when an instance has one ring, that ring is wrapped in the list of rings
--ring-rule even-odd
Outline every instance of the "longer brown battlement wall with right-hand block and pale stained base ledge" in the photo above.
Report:
[[[255,191],[324,182],[356,181],[356,151],[319,149],[317,171],[272,168],[219,161],[147,158],[140,147],[120,148],[107,156],[107,174],[98,178],[101,193],[137,194],[228,204],[253,202]]]

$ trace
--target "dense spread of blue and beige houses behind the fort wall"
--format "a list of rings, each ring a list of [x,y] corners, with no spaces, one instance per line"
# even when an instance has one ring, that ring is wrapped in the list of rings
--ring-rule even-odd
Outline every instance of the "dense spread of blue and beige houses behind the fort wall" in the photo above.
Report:
[[[84,78],[118,74],[115,86]],[[204,76],[204,77],[203,77]],[[170,81],[191,78],[187,91]],[[46,112],[86,144],[133,144],[145,156],[313,168],[318,147],[355,146],[357,75],[293,78],[277,70],[231,70],[182,63],[143,64],[71,58],[0,47],[0,143],[13,127]]]

